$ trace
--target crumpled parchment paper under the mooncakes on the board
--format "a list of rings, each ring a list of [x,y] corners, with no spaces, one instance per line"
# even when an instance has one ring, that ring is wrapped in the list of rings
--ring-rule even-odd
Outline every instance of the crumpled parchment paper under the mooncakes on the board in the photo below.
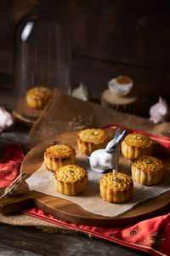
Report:
[[[164,172],[164,177],[161,183],[155,186],[144,186],[142,184],[133,182],[133,198],[123,204],[112,204],[104,201],[99,195],[99,180],[104,173],[100,174],[92,171],[90,169],[88,160],[80,161],[78,155],[77,165],[85,167],[88,171],[88,187],[80,195],[68,196],[59,194],[59,192],[57,192],[54,188],[54,173],[48,171],[48,169],[44,166],[44,163],[31,175],[31,177],[26,179],[26,183],[28,183],[31,190],[36,190],[46,195],[53,195],[68,201],[72,201],[88,212],[107,217],[115,217],[131,209],[141,201],[156,197],[170,190],[170,173]],[[130,166],[131,162],[123,158],[121,155],[119,161],[119,172],[124,172],[131,176]]]

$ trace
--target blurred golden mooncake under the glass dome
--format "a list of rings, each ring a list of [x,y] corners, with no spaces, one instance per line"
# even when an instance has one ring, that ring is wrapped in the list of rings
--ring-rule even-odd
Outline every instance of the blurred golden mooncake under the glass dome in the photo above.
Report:
[[[53,95],[47,87],[34,87],[26,92],[26,102],[30,108],[43,109]]]

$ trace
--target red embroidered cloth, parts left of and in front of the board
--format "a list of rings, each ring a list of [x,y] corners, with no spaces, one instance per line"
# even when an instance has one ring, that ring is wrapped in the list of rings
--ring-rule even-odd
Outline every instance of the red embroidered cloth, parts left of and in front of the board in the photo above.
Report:
[[[24,156],[19,144],[11,144],[0,156],[0,187],[8,186],[17,177]],[[170,213],[124,228],[100,228],[68,223],[62,219],[54,218],[36,207],[22,212],[72,230],[80,230],[123,246],[133,247],[152,255],[170,255]]]

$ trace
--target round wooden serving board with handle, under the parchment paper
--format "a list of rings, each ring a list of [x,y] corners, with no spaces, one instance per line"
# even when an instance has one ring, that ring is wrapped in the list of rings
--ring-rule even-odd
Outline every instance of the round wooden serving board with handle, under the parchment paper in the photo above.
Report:
[[[110,130],[111,131],[111,130]],[[111,131],[112,133],[115,132]],[[20,172],[26,172],[26,178],[42,166],[43,152],[52,143],[65,143],[77,149],[77,132],[67,132],[54,137],[48,142],[42,143],[26,155],[21,166]],[[84,156],[86,157],[86,156]],[[165,157],[166,165],[170,160]],[[1,193],[3,189],[1,189]],[[21,183],[20,188],[14,193],[13,197],[7,197],[0,201],[0,212],[7,214],[18,211],[26,207],[39,207],[43,212],[54,217],[64,219],[76,224],[86,224],[95,226],[124,226],[133,224],[144,218],[152,218],[157,214],[165,212],[170,207],[170,191],[163,193],[156,198],[139,203],[133,209],[122,213],[114,218],[103,217],[91,212],[85,211],[77,204],[64,199],[44,195],[37,191],[30,191],[27,183]]]

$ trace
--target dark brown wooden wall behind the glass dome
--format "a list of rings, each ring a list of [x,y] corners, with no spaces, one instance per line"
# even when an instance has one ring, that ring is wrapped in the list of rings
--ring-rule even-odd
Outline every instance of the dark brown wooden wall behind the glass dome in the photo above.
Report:
[[[95,100],[110,79],[126,74],[139,93],[139,115],[162,96],[170,104],[170,2],[167,0],[0,0],[0,93],[13,86],[14,32],[31,9],[65,12],[72,40],[71,85],[82,81]]]

